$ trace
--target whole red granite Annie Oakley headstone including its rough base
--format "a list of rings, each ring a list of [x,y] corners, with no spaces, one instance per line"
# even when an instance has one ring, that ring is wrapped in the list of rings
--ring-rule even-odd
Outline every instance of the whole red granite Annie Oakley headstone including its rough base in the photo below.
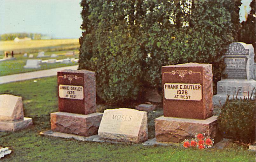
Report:
[[[96,113],[95,72],[58,72],[59,112],[51,113],[51,129],[81,136],[97,134],[102,113]]]

